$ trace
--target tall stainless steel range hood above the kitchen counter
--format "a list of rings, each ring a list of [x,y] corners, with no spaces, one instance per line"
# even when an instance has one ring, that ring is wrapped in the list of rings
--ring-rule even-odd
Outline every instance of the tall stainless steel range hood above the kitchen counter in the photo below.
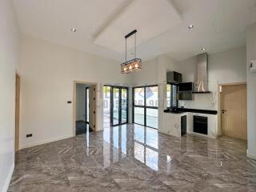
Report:
[[[197,79],[194,94],[209,94],[208,90],[208,54],[198,54]]]

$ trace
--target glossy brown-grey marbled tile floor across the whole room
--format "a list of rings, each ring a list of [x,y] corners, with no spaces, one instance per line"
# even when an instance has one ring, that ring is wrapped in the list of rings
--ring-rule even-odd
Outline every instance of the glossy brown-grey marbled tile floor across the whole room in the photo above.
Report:
[[[256,191],[256,162],[232,138],[117,126],[21,150],[8,191]]]

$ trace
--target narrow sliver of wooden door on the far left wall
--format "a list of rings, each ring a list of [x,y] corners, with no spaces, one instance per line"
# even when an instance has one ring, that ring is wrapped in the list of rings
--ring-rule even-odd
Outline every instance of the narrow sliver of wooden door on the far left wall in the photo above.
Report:
[[[15,90],[15,152],[19,150],[19,105],[20,105],[20,83],[21,79],[16,74]]]

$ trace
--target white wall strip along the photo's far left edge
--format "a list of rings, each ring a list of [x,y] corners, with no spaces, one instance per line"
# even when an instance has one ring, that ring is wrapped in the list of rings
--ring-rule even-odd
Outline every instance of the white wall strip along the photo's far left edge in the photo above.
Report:
[[[15,68],[19,30],[14,6],[0,1],[0,191],[6,191],[14,169]]]

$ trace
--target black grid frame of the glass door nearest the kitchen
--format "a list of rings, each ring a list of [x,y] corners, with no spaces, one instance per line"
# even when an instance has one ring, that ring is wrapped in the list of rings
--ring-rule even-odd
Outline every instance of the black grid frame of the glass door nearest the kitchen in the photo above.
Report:
[[[154,86],[158,86],[158,85],[134,86],[133,87],[133,96],[132,96],[133,97],[133,118],[132,119],[133,119],[133,123],[134,124],[138,124],[138,125],[141,125],[141,126],[146,126],[146,109],[158,110],[158,106],[146,106],[146,87],[154,87]],[[144,88],[144,105],[143,106],[135,105],[135,103],[134,103],[134,89],[136,89],[136,88]],[[134,108],[135,107],[143,108],[144,109],[144,125],[134,122]],[[155,128],[155,127],[151,127],[151,126],[146,126],[146,127],[150,127],[150,128],[158,130],[158,128]]]

